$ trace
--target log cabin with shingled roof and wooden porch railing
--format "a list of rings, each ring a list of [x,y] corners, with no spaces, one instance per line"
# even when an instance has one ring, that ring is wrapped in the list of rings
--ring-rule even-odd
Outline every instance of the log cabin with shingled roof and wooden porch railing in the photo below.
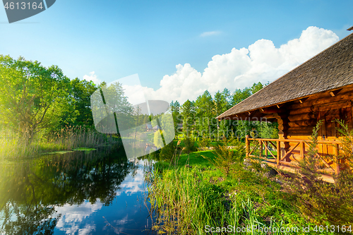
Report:
[[[340,149],[340,135],[335,119],[353,123],[353,34],[328,47],[273,81],[246,100],[239,102],[216,119],[277,121],[279,139],[246,137],[256,142],[271,167],[295,171],[298,161],[309,149],[310,136],[317,121],[323,120],[318,131],[318,157],[323,162],[323,179],[333,182],[340,163],[329,157]],[[270,151],[272,145],[277,153]],[[270,155],[268,156],[268,152]]]

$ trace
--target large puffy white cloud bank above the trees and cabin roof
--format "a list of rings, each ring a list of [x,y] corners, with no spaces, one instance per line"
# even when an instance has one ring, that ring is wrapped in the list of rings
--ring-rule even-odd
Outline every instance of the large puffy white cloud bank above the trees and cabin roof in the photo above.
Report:
[[[177,71],[165,75],[160,88],[143,88],[150,100],[195,100],[205,90],[212,94],[228,88],[231,92],[253,83],[273,81],[315,56],[339,38],[331,30],[309,27],[297,39],[275,47],[271,40],[257,40],[248,48],[233,48],[228,54],[215,55],[201,73],[191,64],[178,64]]]

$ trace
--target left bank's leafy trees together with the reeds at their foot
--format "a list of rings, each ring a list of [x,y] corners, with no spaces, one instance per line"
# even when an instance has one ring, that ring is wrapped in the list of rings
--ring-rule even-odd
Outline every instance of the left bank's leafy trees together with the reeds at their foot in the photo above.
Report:
[[[116,137],[93,124],[90,96],[102,85],[70,80],[58,66],[0,55],[0,159],[116,145]]]

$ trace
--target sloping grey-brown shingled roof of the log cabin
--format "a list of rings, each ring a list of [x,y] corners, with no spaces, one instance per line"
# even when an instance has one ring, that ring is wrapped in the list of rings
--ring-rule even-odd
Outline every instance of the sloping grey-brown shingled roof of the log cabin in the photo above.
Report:
[[[349,84],[353,84],[353,33],[220,114],[217,119],[299,100]]]

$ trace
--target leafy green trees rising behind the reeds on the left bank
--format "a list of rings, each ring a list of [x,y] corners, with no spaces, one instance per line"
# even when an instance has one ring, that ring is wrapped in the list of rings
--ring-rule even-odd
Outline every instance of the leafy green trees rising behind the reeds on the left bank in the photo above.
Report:
[[[90,95],[102,85],[70,80],[58,66],[0,55],[0,126],[28,139],[67,126],[90,127]]]

